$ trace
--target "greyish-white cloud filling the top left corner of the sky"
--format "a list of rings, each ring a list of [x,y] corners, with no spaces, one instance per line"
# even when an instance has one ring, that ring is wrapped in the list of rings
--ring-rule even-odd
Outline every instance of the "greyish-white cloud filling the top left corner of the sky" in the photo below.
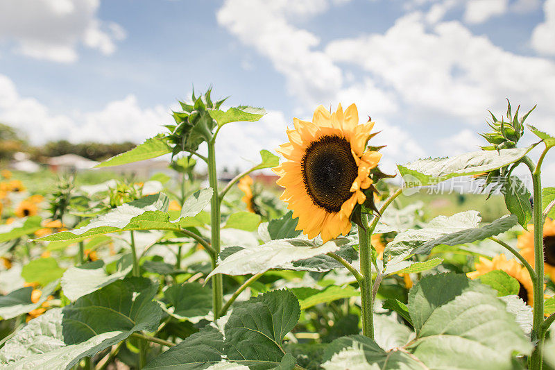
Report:
[[[74,62],[79,44],[109,55],[126,33],[96,17],[99,0],[0,1],[0,42],[31,58]]]

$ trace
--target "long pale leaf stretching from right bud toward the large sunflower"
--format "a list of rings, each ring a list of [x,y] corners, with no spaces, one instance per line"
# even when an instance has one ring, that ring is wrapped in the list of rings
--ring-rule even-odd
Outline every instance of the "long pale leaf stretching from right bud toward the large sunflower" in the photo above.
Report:
[[[498,151],[473,151],[452,158],[428,158],[408,165],[398,165],[407,187],[440,183],[456,176],[481,174],[514,163],[531,151],[533,146]]]

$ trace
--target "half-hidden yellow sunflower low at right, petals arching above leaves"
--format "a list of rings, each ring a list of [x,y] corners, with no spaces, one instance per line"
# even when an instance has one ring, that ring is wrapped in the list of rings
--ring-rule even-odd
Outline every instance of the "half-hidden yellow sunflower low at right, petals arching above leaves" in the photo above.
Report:
[[[480,257],[476,264],[476,271],[466,274],[469,278],[479,278],[481,275],[487,274],[493,270],[505,271],[518,281],[520,289],[518,296],[528,305],[533,305],[533,285],[528,270],[516,260],[507,260],[503,253],[496,255],[493,260]]]

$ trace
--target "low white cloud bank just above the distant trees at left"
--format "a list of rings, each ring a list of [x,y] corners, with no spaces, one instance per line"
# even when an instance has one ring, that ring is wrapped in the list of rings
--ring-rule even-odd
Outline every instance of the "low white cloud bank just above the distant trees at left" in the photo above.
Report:
[[[56,114],[36,99],[19,96],[10,78],[0,75],[0,122],[19,128],[34,144],[59,139],[142,142],[170,121],[167,108],[141,108],[133,95],[99,111]]]

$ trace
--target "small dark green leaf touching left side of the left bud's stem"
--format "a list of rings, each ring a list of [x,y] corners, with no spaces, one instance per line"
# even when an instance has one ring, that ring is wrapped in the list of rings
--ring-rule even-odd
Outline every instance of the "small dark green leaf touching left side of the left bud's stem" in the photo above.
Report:
[[[212,310],[212,289],[199,283],[173,284],[164,289],[164,311],[179,320],[205,317]]]

